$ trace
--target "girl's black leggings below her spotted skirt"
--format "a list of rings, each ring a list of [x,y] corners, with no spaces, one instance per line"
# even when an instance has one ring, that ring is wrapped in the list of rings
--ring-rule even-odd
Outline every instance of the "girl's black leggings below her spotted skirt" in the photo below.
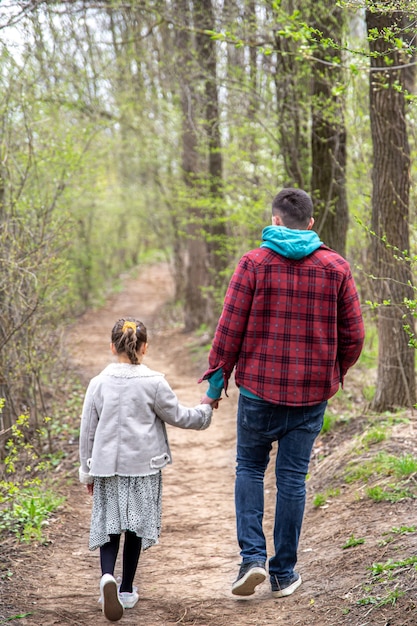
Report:
[[[117,555],[119,553],[120,535],[110,535],[110,541],[100,546],[101,573],[114,576]],[[133,591],[133,579],[138,567],[142,539],[130,530],[125,532],[123,546],[123,571],[120,591]]]

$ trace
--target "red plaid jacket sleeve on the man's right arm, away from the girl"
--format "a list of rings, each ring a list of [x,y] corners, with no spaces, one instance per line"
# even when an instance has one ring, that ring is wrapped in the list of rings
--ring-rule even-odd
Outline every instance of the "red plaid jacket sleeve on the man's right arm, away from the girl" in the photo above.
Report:
[[[337,333],[338,360],[343,382],[348,369],[358,360],[365,339],[359,296],[350,270],[339,291]]]

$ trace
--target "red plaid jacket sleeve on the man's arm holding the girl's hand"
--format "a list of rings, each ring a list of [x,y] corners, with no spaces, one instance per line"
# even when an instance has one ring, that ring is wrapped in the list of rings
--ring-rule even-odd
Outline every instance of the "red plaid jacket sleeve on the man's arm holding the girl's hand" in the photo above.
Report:
[[[227,288],[209,354],[209,369],[200,382],[222,369],[224,389],[227,391],[228,381],[239,358],[245,336],[255,285],[253,263],[245,255],[240,259]]]

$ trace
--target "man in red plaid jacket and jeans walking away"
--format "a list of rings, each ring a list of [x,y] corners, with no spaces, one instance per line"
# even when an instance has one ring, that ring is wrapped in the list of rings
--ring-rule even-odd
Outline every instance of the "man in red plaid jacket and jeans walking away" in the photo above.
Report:
[[[327,400],[364,341],[349,264],[311,230],[312,215],[311,198],[302,190],[283,189],[274,198],[272,226],[232,276],[201,379],[209,381],[205,398],[219,399],[236,368],[235,507],[242,563],[232,593],[238,596],[253,594],[267,576],[264,474],[275,441],[272,595],[289,596],[301,584],[294,567],[311,450]]]

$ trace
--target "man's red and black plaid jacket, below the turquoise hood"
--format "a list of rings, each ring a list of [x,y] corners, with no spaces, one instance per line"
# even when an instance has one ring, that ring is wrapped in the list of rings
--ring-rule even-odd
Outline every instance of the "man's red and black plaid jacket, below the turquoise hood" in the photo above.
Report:
[[[364,326],[349,264],[321,246],[301,260],[267,248],[245,254],[230,281],[202,377],[234,367],[263,400],[313,405],[333,396],[358,359]]]

